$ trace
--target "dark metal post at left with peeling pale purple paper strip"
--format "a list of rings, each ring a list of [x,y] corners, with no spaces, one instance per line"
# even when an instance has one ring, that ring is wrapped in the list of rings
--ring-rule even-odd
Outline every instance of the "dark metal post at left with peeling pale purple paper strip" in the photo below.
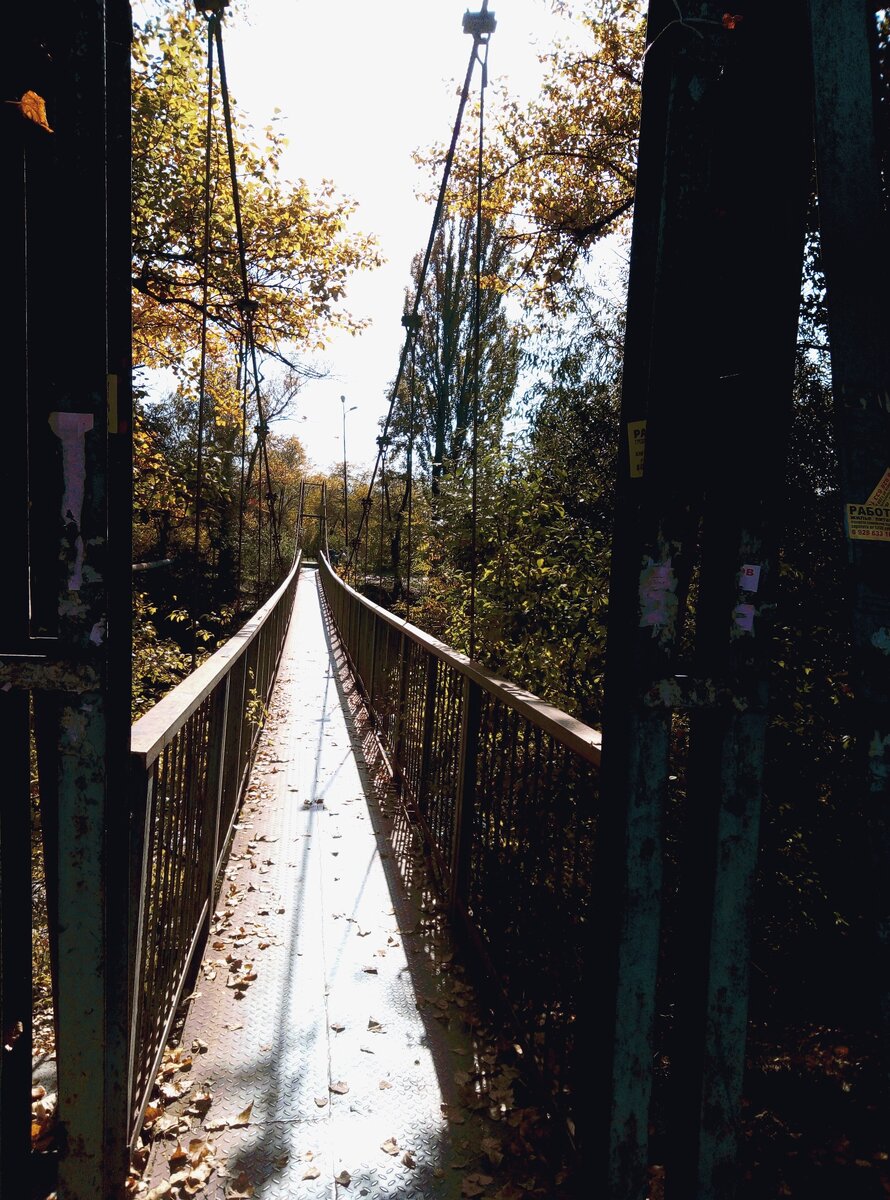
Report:
[[[12,571],[0,673],[35,694],[59,1192],[104,1200],[127,1168],[131,19],[124,0],[8,16],[4,90],[22,106],[4,127],[19,122],[11,161],[24,158],[8,407],[28,440],[10,456],[7,517],[28,560]]]

